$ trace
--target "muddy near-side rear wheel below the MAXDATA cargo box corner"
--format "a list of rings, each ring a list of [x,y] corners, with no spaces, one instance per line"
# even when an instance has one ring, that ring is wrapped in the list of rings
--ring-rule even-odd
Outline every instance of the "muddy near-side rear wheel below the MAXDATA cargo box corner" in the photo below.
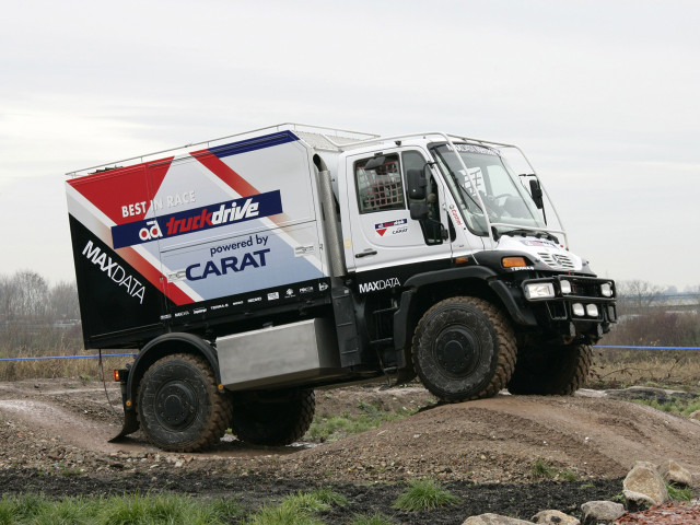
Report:
[[[139,422],[164,451],[195,452],[219,442],[231,420],[231,399],[217,392],[205,358],[177,353],[151,365],[139,384]]]

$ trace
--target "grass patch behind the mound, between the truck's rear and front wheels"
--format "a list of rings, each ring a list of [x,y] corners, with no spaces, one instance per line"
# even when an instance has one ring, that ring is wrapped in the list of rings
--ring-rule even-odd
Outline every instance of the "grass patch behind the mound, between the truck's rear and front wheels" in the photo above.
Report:
[[[368,430],[376,429],[383,423],[397,421],[417,412],[417,409],[401,408],[397,411],[387,411],[376,404],[360,401],[359,413],[343,412],[342,416],[328,418],[314,418],[304,441],[316,443],[334,442],[348,435],[359,434]]]

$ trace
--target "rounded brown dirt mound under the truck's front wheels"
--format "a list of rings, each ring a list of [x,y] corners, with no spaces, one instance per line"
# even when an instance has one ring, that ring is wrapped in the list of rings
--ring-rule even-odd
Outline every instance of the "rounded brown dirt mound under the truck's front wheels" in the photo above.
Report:
[[[443,405],[290,456],[332,478],[438,476],[532,480],[544,460],[580,478],[625,476],[637,459],[675,458],[700,476],[700,425],[600,398],[497,396]],[[700,478],[699,478],[700,479]]]

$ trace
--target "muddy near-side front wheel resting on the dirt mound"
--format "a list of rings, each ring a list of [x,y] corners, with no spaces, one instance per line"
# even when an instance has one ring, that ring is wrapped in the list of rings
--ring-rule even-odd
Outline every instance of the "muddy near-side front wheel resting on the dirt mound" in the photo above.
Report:
[[[508,318],[475,298],[447,299],[425,312],[412,350],[425,388],[448,402],[494,396],[505,388],[516,359]]]

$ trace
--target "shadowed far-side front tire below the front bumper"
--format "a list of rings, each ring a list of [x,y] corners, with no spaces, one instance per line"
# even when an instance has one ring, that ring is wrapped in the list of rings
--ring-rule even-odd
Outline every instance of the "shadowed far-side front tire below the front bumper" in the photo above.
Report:
[[[508,389],[511,394],[569,396],[585,384],[592,360],[588,345],[524,347]]]

